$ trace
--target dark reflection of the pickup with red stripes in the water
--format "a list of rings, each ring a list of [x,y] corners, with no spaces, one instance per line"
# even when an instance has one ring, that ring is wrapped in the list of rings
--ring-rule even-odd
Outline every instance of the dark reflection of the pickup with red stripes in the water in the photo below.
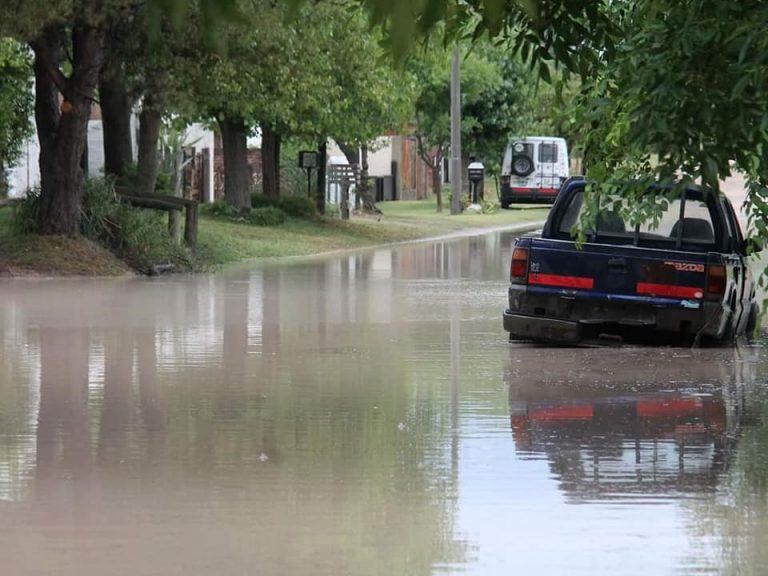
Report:
[[[549,383],[508,371],[515,450],[545,455],[575,500],[712,490],[747,421],[740,362],[699,385],[680,381],[685,369],[671,365],[654,367],[655,384],[625,378],[629,366],[602,384],[578,368],[568,382]],[[691,368],[696,359],[682,363]],[[696,368],[691,373],[696,378]]]

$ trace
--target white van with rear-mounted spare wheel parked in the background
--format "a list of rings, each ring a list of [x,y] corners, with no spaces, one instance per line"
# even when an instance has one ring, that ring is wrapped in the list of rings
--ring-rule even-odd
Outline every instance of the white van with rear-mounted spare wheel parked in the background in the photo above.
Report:
[[[501,207],[514,202],[551,204],[568,175],[564,138],[513,138],[501,163]]]

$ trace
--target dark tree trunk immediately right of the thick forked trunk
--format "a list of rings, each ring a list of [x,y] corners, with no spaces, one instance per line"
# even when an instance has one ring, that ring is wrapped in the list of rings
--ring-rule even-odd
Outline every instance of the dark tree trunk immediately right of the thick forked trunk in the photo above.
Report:
[[[122,62],[107,53],[99,78],[99,101],[104,131],[104,172],[121,178],[133,162],[131,108]]]

